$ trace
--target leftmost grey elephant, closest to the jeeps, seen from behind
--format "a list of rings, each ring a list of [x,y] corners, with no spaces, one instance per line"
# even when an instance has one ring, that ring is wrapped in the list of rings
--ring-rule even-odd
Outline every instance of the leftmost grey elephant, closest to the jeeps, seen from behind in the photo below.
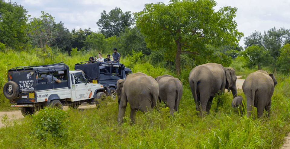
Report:
[[[135,123],[137,110],[145,113],[156,106],[159,95],[157,81],[144,73],[129,74],[125,80],[117,81],[118,92],[118,123],[123,123],[127,103],[130,104],[131,123]]]

